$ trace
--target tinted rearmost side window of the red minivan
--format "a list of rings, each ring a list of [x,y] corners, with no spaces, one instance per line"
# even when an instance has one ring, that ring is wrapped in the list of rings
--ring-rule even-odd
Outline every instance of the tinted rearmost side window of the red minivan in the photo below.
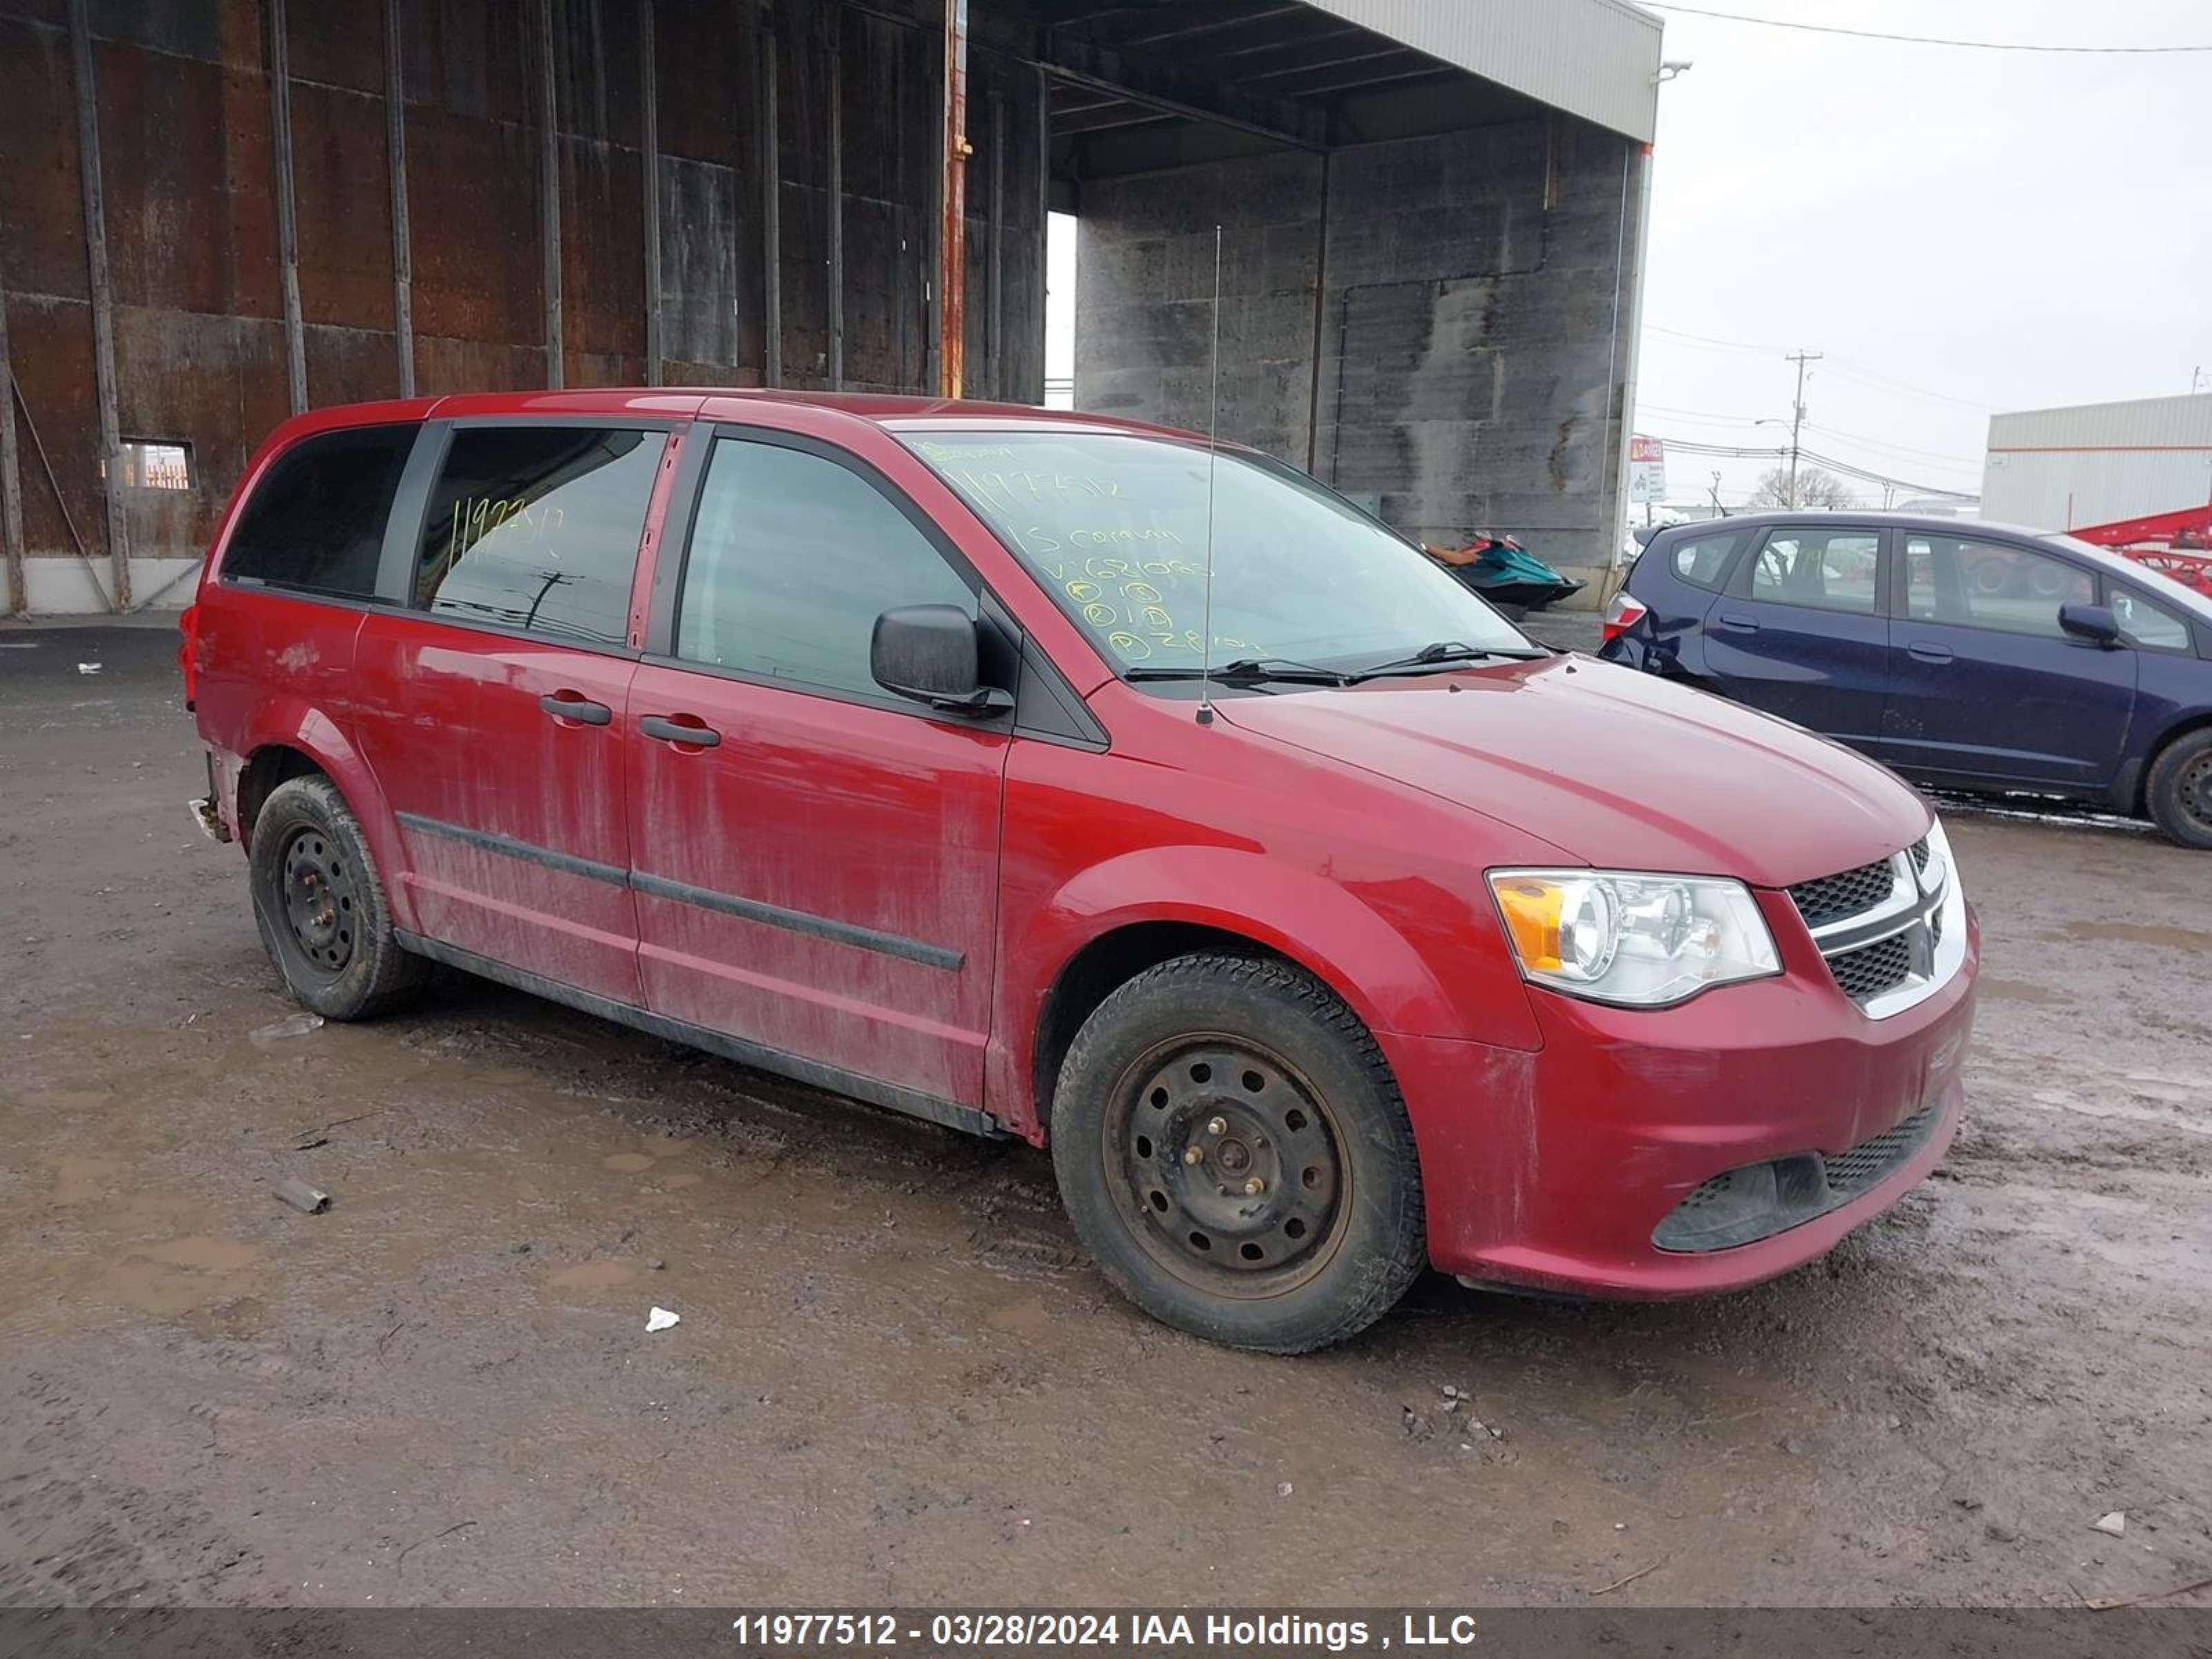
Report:
[[[223,577],[367,599],[385,520],[418,427],[347,427],[301,438],[246,498]]]

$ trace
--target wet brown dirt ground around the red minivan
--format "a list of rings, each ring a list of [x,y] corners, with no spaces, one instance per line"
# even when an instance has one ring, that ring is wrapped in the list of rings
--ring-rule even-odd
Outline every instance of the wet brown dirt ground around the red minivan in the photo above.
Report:
[[[1267,1360],[1124,1307],[1022,1148],[471,982],[257,1035],[292,1004],[186,821],[170,644],[0,630],[0,1606],[2212,1575],[2212,856],[1953,816],[1969,1121],[1827,1261],[1661,1307],[1431,1279]]]

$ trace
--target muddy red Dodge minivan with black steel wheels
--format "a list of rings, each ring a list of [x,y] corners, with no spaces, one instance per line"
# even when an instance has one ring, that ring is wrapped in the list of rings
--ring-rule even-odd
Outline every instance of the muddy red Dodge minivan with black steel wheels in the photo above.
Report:
[[[1425,1263],[1679,1296],[1960,1115],[1942,827],[1528,641],[1248,449],[927,398],[323,409],[186,613],[201,821],[310,1009],[434,962],[975,1135],[1186,1332]]]

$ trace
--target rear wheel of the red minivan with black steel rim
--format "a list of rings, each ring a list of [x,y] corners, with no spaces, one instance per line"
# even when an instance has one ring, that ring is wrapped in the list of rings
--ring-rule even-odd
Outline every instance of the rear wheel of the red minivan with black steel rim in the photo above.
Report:
[[[429,975],[400,949],[367,836],[325,776],[279,783],[254,816],[254,927],[285,989],[325,1020],[374,1020]]]

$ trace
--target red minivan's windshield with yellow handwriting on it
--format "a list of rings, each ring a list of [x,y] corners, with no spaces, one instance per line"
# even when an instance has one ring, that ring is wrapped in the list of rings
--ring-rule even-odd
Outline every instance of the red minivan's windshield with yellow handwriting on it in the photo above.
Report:
[[[1237,659],[1358,672],[1528,639],[1416,546],[1281,462],[1219,451],[1206,653],[1206,445],[1106,431],[902,434],[1124,672]]]

